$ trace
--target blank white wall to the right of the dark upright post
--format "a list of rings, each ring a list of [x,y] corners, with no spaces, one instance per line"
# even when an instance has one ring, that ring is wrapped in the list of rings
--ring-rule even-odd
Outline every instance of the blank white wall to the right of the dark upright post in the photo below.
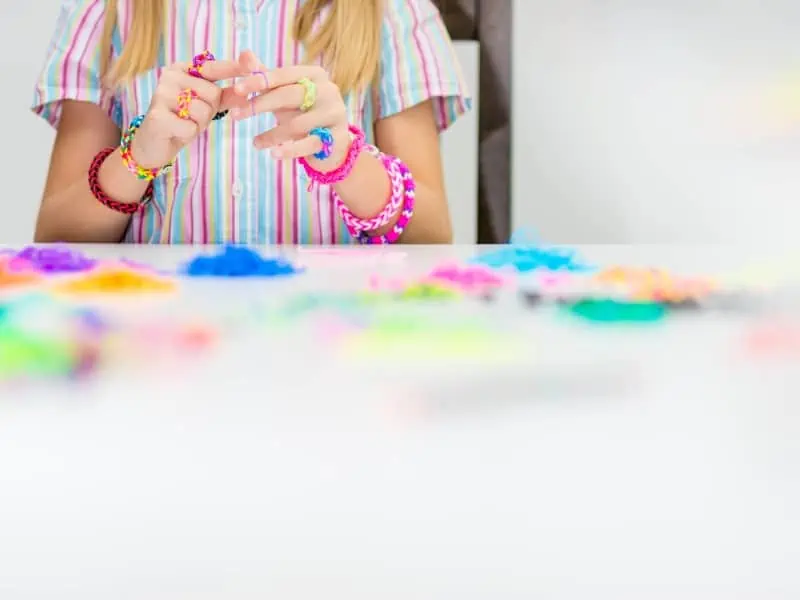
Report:
[[[515,227],[797,240],[800,2],[515,0]]]

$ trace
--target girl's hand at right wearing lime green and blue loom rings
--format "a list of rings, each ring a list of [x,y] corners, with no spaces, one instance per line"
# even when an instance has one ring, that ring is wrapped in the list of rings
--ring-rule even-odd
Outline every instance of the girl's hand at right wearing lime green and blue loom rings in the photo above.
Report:
[[[302,157],[318,165],[323,162],[331,168],[338,166],[350,146],[347,109],[339,87],[329,79],[325,69],[319,66],[291,66],[268,71],[252,52],[242,53],[239,60],[252,75],[236,84],[236,93],[243,99],[250,94],[254,96],[247,106],[239,106],[232,111],[233,118],[240,120],[261,113],[272,113],[277,120],[274,128],[255,137],[255,147],[270,149],[275,158]],[[303,77],[310,79],[317,88],[316,102],[307,112],[300,110],[305,90],[297,82]],[[327,127],[333,134],[333,154],[325,161],[313,158],[322,149],[319,138],[309,135],[316,127]]]

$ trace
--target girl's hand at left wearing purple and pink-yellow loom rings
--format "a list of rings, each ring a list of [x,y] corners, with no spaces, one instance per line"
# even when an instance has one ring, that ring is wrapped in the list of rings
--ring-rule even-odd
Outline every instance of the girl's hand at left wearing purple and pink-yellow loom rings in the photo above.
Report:
[[[186,71],[188,64],[167,67],[158,81],[150,109],[131,142],[131,154],[141,166],[161,168],[181,149],[203,133],[218,112],[247,103],[232,87],[221,88],[216,82],[248,75],[238,61],[209,61],[203,65],[203,79]],[[197,92],[189,118],[178,116],[178,97],[184,90]]]

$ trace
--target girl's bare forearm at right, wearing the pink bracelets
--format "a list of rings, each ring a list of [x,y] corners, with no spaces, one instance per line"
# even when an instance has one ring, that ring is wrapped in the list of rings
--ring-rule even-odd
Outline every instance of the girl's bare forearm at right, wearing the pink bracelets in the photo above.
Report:
[[[435,193],[424,182],[417,180],[415,183],[414,216],[400,241],[405,244],[451,243],[450,215],[446,208],[440,208],[446,207],[446,202],[435,198]],[[337,183],[334,189],[355,216],[371,218],[386,206],[391,194],[391,183],[383,162],[368,152],[362,152],[349,177]],[[386,233],[399,218],[398,212],[389,225],[374,234]]]

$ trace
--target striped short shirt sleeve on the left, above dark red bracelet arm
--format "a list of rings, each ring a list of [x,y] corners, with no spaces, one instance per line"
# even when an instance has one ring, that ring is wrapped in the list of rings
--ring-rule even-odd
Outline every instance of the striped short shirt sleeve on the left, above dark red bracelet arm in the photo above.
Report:
[[[104,0],[64,0],[61,4],[31,107],[53,127],[58,127],[64,100],[97,104],[120,125],[116,98],[101,84],[104,16]]]

